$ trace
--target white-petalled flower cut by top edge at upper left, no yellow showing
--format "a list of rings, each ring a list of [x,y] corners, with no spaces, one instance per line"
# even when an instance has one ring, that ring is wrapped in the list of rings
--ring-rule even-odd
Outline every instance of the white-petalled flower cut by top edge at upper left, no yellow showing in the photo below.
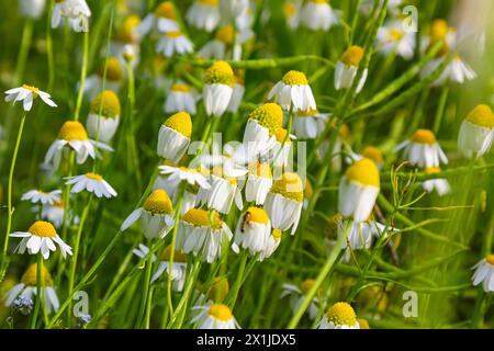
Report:
[[[66,19],[74,32],[88,32],[90,16],[86,0],[58,0],[53,8],[52,27],[60,26]]]

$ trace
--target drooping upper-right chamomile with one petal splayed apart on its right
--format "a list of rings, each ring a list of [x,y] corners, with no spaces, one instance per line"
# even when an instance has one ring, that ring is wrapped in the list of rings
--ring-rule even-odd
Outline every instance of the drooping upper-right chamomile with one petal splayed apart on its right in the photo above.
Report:
[[[359,65],[363,58],[363,49],[360,46],[350,46],[340,57],[336,64],[335,69],[335,89],[350,89],[353,80],[357,77]],[[356,93],[363,89],[369,69],[362,71],[360,81],[357,84]]]

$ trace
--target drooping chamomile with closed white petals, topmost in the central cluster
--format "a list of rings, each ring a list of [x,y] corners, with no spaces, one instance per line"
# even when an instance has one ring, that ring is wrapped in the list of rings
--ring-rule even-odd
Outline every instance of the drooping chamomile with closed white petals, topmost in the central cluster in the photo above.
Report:
[[[232,100],[235,76],[226,61],[215,61],[204,75],[202,99],[209,116],[223,115]]]

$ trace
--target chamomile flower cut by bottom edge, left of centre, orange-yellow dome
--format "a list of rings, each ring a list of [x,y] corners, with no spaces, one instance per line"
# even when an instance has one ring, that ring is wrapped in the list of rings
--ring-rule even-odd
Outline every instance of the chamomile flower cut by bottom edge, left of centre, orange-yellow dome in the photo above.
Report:
[[[209,303],[205,306],[193,307],[199,309],[198,316],[191,319],[191,324],[198,324],[198,329],[239,329],[232,309],[223,304]]]

